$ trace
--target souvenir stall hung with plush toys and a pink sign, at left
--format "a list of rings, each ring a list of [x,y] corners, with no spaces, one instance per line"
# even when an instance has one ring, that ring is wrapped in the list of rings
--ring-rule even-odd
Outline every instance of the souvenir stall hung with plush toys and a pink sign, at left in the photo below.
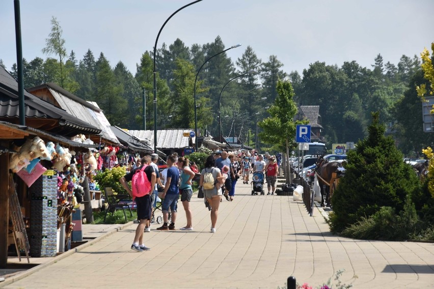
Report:
[[[74,142],[31,127],[28,131],[47,142],[39,136],[26,139],[11,155],[9,169],[20,179],[15,177],[15,182],[23,182],[24,189],[28,188],[21,196],[21,204],[24,211],[30,212],[25,216],[30,220],[30,254],[54,256],[67,250],[74,233],[81,231],[81,218],[75,222],[72,218],[79,213],[88,187],[85,171],[96,169],[91,149],[97,145],[90,140]],[[77,241],[81,241],[81,233]]]

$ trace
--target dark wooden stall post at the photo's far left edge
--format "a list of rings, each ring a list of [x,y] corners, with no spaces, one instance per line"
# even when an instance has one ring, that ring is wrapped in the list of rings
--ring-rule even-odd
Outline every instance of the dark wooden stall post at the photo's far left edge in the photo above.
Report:
[[[0,142],[9,147],[8,142]],[[0,268],[8,263],[9,153],[0,154]]]

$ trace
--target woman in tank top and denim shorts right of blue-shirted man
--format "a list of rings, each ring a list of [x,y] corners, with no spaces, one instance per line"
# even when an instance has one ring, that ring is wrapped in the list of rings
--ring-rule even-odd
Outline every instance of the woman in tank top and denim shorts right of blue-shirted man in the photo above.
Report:
[[[187,225],[180,230],[193,231],[193,217],[192,210],[190,209],[190,200],[193,195],[192,179],[195,177],[195,173],[188,166],[188,158],[182,156],[178,158],[178,166],[181,169],[181,184],[179,185],[181,190],[181,202],[182,206],[184,206],[185,217],[187,219]]]

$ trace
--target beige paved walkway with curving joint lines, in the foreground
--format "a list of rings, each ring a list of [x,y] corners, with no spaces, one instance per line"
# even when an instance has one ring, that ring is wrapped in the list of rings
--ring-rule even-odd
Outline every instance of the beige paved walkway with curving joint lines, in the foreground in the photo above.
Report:
[[[251,196],[238,183],[221,203],[217,232],[192,201],[194,232],[154,229],[145,252],[130,250],[133,224],[5,288],[273,288],[288,276],[320,285],[339,269],[354,288],[433,288],[434,244],[336,237],[318,210],[292,197]],[[185,225],[179,204],[176,227]],[[0,283],[1,286],[1,283]]]

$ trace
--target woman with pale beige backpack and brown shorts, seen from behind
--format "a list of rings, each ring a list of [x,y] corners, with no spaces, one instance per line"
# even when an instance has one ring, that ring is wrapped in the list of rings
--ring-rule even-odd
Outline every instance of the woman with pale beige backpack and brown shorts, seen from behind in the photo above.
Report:
[[[203,188],[203,192],[211,206],[211,233],[215,233],[215,224],[219,215],[220,201],[222,200],[222,189],[215,187],[215,180],[222,176],[218,168],[214,167],[214,156],[210,155],[205,160],[205,168],[201,172],[199,187]]]

